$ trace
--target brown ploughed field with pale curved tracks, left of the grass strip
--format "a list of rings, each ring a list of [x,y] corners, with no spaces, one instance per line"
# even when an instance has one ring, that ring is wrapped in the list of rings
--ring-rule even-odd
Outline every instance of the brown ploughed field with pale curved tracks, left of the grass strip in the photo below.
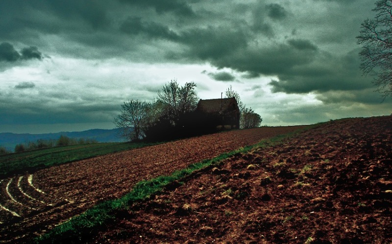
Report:
[[[303,126],[204,135],[0,179],[0,242],[28,242],[98,202],[123,196],[140,180],[170,175],[189,164],[299,128]]]

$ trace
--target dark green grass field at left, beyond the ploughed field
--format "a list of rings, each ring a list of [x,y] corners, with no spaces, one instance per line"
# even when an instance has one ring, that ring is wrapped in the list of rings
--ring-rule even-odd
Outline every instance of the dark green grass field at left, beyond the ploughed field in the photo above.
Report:
[[[35,172],[54,165],[152,145],[151,143],[96,143],[54,147],[0,156],[0,178]]]

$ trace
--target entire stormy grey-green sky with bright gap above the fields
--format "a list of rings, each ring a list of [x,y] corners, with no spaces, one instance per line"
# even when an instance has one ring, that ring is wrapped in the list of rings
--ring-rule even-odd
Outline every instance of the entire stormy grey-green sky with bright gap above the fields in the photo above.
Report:
[[[170,80],[262,125],[391,113],[360,70],[372,0],[1,0],[0,132],[112,129]]]

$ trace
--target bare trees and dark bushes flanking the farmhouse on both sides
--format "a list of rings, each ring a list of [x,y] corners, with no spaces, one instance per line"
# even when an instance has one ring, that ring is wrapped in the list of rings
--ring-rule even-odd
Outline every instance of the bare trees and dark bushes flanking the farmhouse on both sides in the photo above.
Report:
[[[114,119],[120,136],[128,141],[167,141],[181,137],[216,132],[216,117],[196,111],[199,97],[194,82],[180,86],[176,80],[165,84],[152,102],[129,100],[121,105]],[[251,108],[245,108],[239,94],[231,87],[225,98],[234,97],[240,109],[240,127],[260,126],[262,118]]]

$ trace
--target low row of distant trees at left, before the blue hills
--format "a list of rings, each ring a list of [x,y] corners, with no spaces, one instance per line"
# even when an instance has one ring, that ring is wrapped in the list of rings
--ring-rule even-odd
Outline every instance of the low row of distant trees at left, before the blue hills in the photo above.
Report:
[[[61,135],[57,140],[55,139],[38,139],[35,142],[29,141],[26,143],[20,143],[15,146],[15,153],[22,153],[25,151],[32,151],[37,149],[44,148],[53,148],[53,147],[63,147],[63,146],[72,146],[72,145],[83,145],[83,144],[93,144],[98,143],[95,139],[90,138],[70,138],[66,135]],[[0,147],[0,155],[10,154],[5,147]]]

